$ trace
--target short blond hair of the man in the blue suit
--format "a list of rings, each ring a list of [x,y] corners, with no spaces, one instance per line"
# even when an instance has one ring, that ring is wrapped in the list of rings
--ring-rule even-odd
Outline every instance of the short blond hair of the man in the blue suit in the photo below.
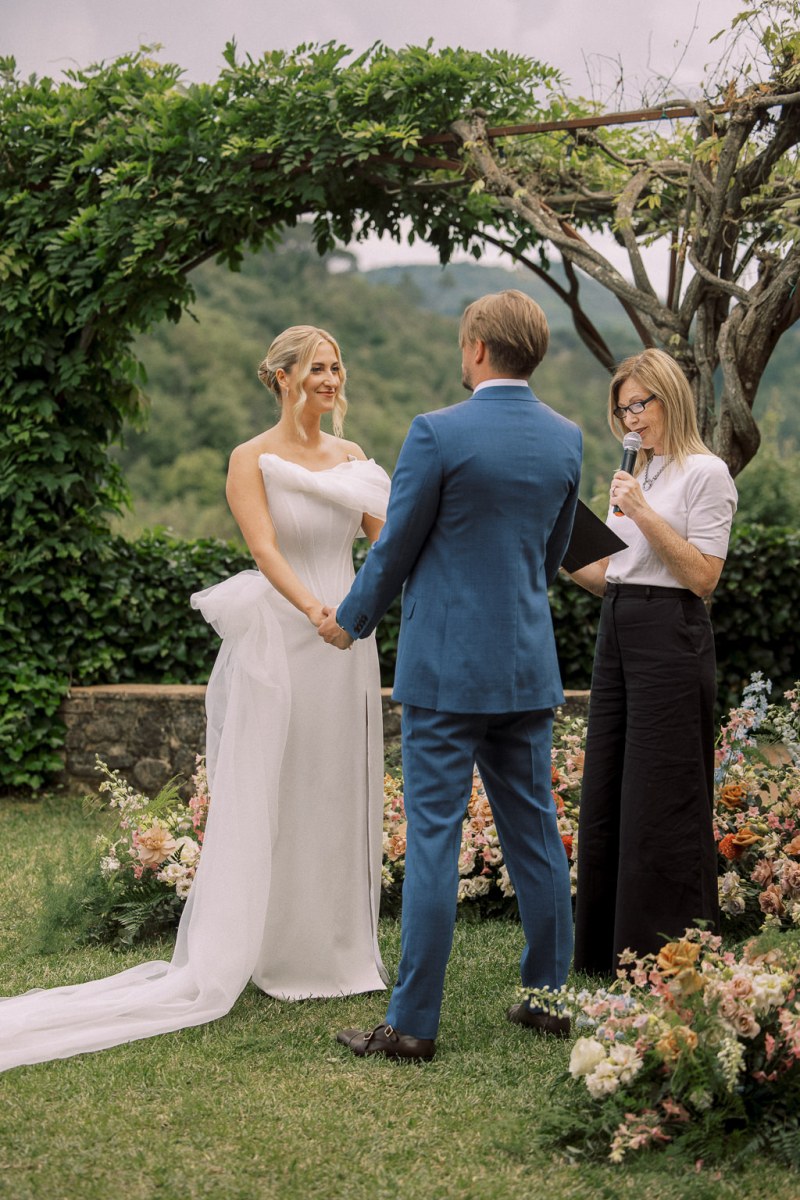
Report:
[[[516,288],[473,301],[458,329],[459,346],[485,342],[492,366],[510,379],[528,379],[545,358],[549,340],[545,313]]]

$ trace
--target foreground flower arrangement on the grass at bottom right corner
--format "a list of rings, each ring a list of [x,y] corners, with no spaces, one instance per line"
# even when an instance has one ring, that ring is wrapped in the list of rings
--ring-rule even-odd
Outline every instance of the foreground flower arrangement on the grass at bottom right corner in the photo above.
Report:
[[[775,1153],[800,1166],[800,932],[739,953],[700,930],[620,959],[594,992],[531,991],[581,1037],[542,1136],[624,1162],[669,1146],[694,1160]]]

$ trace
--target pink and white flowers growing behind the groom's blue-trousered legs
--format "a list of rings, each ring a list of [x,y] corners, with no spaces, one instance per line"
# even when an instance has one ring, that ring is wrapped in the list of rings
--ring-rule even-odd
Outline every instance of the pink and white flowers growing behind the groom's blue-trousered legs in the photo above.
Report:
[[[585,721],[559,727],[552,751],[553,803],[575,892],[578,844],[578,798],[583,774]],[[397,912],[405,866],[405,811],[402,780],[384,779],[384,864],[381,911]],[[458,904],[464,916],[512,914],[517,901],[481,776],[476,770],[467,803],[458,854]]]

